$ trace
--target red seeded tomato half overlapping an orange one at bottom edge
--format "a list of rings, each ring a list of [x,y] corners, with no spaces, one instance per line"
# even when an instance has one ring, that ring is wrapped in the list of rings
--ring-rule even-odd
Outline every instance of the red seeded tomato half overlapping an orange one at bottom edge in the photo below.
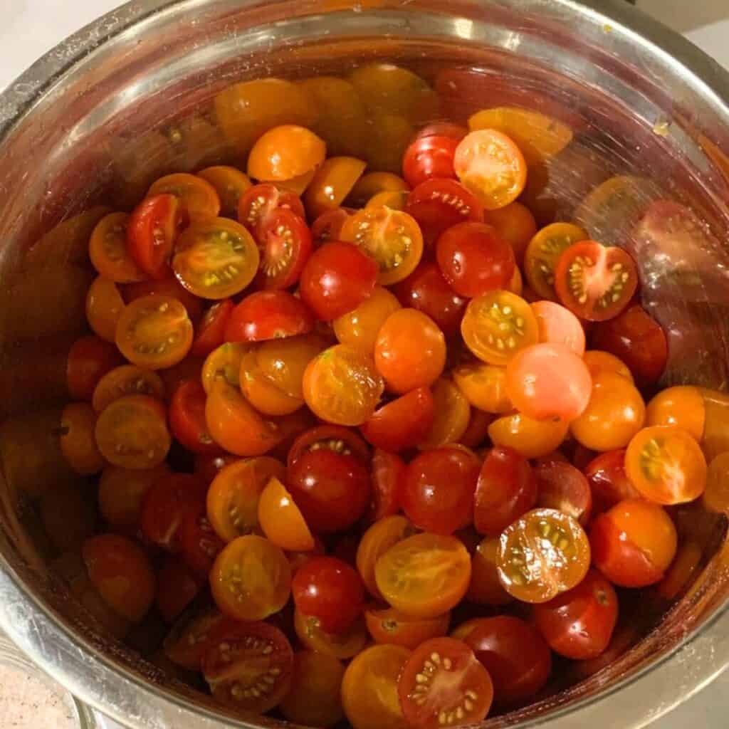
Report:
[[[453,638],[433,638],[421,644],[405,663],[398,693],[410,726],[439,729],[485,719],[494,685],[467,644]]]

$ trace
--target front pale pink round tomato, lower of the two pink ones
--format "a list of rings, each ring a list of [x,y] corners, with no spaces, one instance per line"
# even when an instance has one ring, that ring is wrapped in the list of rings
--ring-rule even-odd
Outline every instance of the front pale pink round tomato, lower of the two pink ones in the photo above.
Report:
[[[582,358],[561,344],[534,344],[506,367],[506,392],[534,420],[572,421],[588,407],[592,378]]]

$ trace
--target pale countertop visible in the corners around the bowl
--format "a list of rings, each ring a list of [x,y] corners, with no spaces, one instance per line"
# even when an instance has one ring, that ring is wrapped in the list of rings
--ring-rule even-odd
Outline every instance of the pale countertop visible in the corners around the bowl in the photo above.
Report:
[[[61,39],[120,4],[117,0],[0,0],[0,89]],[[638,5],[729,68],[729,0],[638,0]],[[0,697],[20,690],[1,685]],[[655,729],[723,729],[728,714],[729,671],[657,722]],[[7,727],[8,721],[9,717],[0,716],[0,727]],[[108,727],[116,725],[108,722]],[[622,728],[615,725],[614,729]]]

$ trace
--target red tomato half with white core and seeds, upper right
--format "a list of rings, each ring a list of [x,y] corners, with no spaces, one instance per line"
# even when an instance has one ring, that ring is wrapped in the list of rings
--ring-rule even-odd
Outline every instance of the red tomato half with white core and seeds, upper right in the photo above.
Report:
[[[595,241],[569,246],[559,257],[554,275],[561,302],[588,321],[617,316],[638,288],[638,269],[630,255]]]

